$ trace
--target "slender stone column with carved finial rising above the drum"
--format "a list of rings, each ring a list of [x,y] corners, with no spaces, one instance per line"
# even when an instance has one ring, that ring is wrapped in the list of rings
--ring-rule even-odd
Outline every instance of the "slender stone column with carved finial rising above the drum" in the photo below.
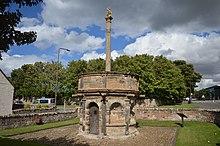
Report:
[[[105,71],[111,71],[111,16],[112,12],[110,8],[107,8],[107,14],[105,16],[106,20],[106,66]]]

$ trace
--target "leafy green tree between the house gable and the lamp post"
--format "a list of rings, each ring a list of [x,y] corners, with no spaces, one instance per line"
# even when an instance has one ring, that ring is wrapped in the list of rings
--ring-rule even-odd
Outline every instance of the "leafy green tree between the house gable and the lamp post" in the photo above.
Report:
[[[63,67],[60,65],[60,69]],[[57,63],[35,62],[25,64],[11,73],[15,87],[15,97],[53,97],[55,90]],[[62,73],[60,77],[62,78]]]

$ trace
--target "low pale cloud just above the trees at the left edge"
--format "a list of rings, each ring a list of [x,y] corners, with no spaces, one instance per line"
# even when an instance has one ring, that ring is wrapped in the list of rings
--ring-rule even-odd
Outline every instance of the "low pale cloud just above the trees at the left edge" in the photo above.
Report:
[[[6,53],[2,53],[3,60],[0,61],[0,68],[7,75],[10,76],[13,69],[20,68],[24,64],[34,64],[37,61],[46,62],[48,56],[42,55],[40,57],[36,55],[13,55],[9,56]]]

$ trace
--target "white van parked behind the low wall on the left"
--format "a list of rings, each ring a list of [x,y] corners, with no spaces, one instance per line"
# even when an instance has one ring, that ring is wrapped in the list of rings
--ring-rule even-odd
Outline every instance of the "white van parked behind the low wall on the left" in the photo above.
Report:
[[[48,107],[53,107],[55,106],[55,99],[54,98],[40,98],[36,99],[32,102],[31,107],[36,107],[36,105],[40,104],[41,107],[48,105]]]

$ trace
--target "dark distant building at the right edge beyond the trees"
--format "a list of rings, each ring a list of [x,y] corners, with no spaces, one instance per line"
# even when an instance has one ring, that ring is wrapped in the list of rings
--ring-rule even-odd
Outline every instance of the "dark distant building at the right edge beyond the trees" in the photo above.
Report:
[[[208,91],[208,97],[209,99],[215,99],[218,100],[220,99],[220,86],[216,85],[216,86],[212,86],[212,87],[208,87],[206,88],[206,90]]]

